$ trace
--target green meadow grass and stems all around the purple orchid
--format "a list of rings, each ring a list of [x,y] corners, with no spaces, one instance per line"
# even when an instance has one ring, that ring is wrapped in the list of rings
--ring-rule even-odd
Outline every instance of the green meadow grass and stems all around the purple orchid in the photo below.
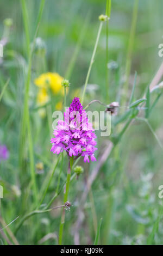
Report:
[[[161,0],[0,3],[2,245],[162,244],[161,8]],[[48,72],[70,84],[43,90],[39,105],[34,81]],[[50,151],[52,113],[75,96],[91,111],[120,104],[111,135],[96,131],[97,162]]]

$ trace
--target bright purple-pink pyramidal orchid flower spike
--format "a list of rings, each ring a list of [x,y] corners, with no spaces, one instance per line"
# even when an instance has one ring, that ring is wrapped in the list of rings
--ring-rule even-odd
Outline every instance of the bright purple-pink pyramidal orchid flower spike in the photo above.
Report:
[[[89,123],[86,111],[78,97],[74,97],[70,107],[64,113],[64,121],[58,121],[57,129],[53,134],[55,137],[51,139],[53,144],[51,151],[54,154],[60,154],[65,150],[68,156],[74,156],[74,160],[83,156],[84,162],[96,161],[95,130]]]

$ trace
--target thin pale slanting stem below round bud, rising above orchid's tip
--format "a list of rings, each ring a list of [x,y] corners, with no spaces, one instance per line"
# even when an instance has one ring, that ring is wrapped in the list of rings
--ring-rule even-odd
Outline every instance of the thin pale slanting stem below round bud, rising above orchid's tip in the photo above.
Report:
[[[89,77],[90,77],[90,72],[91,72],[92,64],[93,64],[94,59],[95,59],[95,54],[96,54],[97,45],[98,45],[98,41],[99,41],[99,36],[100,36],[100,34],[101,34],[102,26],[103,26],[103,21],[101,21],[100,24],[99,24],[98,33],[97,33],[97,38],[96,38],[96,42],[95,42],[95,47],[94,47],[94,49],[93,49],[93,53],[92,53],[92,58],[91,58],[90,66],[89,66],[89,69],[88,69],[87,75],[86,75],[86,80],[85,80],[85,85],[84,85],[84,90],[83,90],[83,95],[82,95],[82,102],[81,102],[82,105],[83,105],[83,101],[84,101],[85,90],[86,90],[87,83],[88,83]]]

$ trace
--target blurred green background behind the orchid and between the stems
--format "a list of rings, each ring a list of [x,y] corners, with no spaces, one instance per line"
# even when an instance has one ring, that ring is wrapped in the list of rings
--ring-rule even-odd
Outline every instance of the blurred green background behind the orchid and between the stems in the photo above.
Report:
[[[137,79],[134,98],[137,100],[146,93],[147,87],[162,63],[158,47],[163,43],[163,2],[141,0],[137,10],[131,56],[129,56],[131,68],[128,90],[124,91],[123,84],[135,2],[134,0],[112,0],[108,61],[106,63],[106,26],[104,24],[84,100],[84,106],[95,99],[106,105],[113,101],[121,102],[118,117],[121,117],[121,114],[127,110],[128,101],[121,101],[121,97],[126,95],[126,99],[129,100],[135,71]],[[40,1],[27,0],[26,5],[29,18],[29,40],[32,47]],[[42,92],[39,96],[39,86],[35,80],[47,72],[57,73],[60,77],[70,80],[67,105],[74,96],[82,94],[98,32],[98,16],[105,14],[105,5],[104,0],[45,1],[34,45],[28,101],[35,175],[39,191],[43,191],[43,182],[58,160],[58,156],[50,152],[53,121],[51,113],[56,109],[62,109],[64,96],[62,92],[59,94],[53,92],[43,94]],[[4,190],[1,215],[7,224],[20,216],[10,225],[10,229],[21,245],[57,245],[60,209],[28,218],[16,233],[22,216],[35,209],[30,181],[27,134],[26,142],[24,142],[25,160],[21,167],[19,164],[21,117],[28,70],[27,38],[21,1],[0,2],[0,40],[1,44],[4,44],[4,57],[0,58],[0,93],[10,78],[0,100],[0,145],[5,145],[8,151],[4,153],[5,160],[1,161],[0,158],[0,185]],[[108,92],[105,86],[106,73],[108,74]],[[46,104],[47,95],[52,99],[51,107]],[[157,94],[151,95],[152,102],[156,96]],[[148,118],[153,132],[143,120],[134,120],[128,127],[118,148],[101,166],[84,206],[82,205],[80,212],[82,224],[78,227],[80,198],[85,189],[87,176],[96,168],[98,160],[90,164],[85,164],[83,160],[79,161],[78,164],[83,166],[84,172],[78,179],[73,179],[70,187],[69,200],[73,206],[70,211],[66,212],[64,230],[66,245],[73,245],[77,241],[84,245],[92,244],[101,218],[103,220],[99,243],[102,245],[143,245],[148,241],[152,244],[162,244],[162,215],[159,215],[162,202],[158,197],[158,187],[163,182],[162,149],[160,147],[163,143],[162,107],[162,97],[160,97]],[[105,108],[94,104],[91,105],[91,109],[102,111]],[[115,117],[112,121],[111,136],[119,131],[115,130]],[[110,141],[112,137],[100,137],[99,132],[96,132],[96,135],[99,149],[97,154],[99,155],[102,152],[104,141]],[[54,175],[43,201],[44,205],[54,196],[58,176],[60,184],[66,179],[66,155],[61,173],[60,166],[61,163],[57,166],[56,176]],[[63,190],[52,206],[61,205],[62,200]],[[150,240],[149,237],[153,234],[152,230],[158,221],[158,216],[160,224]],[[3,225],[2,222],[1,225]],[[8,236],[7,231],[4,230],[4,232]],[[8,243],[4,237],[1,237],[1,242]]]

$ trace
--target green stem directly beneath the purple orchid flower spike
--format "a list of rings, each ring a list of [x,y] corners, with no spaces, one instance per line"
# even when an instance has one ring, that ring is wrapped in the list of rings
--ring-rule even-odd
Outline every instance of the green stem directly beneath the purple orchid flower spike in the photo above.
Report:
[[[68,191],[69,191],[69,186],[70,186],[72,164],[73,164],[73,157],[70,157],[70,161],[68,163],[68,170],[67,170],[67,181],[66,181],[66,191],[65,191],[65,196],[64,196],[64,204],[67,202],[67,199],[68,199]],[[62,234],[64,231],[64,224],[65,224],[65,208],[62,210],[62,215],[61,215],[61,220],[60,220],[59,245],[62,244]]]

